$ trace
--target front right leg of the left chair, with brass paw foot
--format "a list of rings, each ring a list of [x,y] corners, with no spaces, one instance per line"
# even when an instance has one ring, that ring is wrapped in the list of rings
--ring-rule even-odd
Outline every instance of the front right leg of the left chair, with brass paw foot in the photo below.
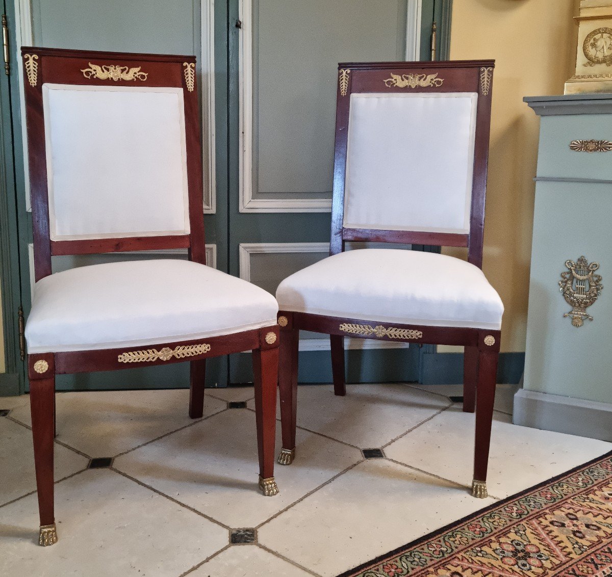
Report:
[[[278,493],[274,480],[278,348],[253,351],[253,380],[255,381],[259,488],[266,497],[271,497]]]

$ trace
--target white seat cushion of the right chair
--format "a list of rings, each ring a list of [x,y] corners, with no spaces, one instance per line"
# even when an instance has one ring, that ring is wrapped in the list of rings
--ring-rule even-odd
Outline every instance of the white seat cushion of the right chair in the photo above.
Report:
[[[498,330],[504,305],[482,270],[436,253],[364,248],[296,272],[280,310],[364,321]]]

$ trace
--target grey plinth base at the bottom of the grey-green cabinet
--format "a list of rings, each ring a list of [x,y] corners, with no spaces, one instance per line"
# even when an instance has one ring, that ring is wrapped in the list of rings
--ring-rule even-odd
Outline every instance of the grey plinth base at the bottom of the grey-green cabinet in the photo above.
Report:
[[[514,395],[513,423],[612,441],[612,403],[520,389]]]

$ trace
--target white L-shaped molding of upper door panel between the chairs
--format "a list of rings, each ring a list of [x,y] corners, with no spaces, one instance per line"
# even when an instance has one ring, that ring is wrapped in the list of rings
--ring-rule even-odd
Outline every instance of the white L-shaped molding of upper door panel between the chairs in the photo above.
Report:
[[[240,0],[239,40],[240,212],[331,212],[330,198],[253,196],[253,0]]]

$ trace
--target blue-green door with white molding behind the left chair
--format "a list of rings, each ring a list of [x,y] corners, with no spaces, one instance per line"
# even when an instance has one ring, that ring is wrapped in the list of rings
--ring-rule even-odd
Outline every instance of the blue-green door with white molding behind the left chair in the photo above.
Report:
[[[18,2],[15,2],[18,4]],[[22,4],[27,4],[23,2]],[[108,50],[119,52],[195,54],[204,117],[204,165],[206,242],[209,262],[220,270],[228,270],[228,198],[226,168],[226,15],[214,19],[214,2],[196,0],[32,0],[32,12],[9,13],[12,32],[13,62],[10,87],[15,149],[16,210],[19,239],[19,269],[21,303],[24,315],[31,306],[31,244],[32,214],[29,209],[28,176],[25,168],[23,138],[23,84],[20,73],[20,45],[73,48],[77,50]],[[13,10],[13,6],[10,7]],[[31,26],[29,26],[31,23]],[[217,24],[220,23],[220,26]],[[213,31],[217,31],[215,34]],[[21,37],[21,38],[20,38]],[[215,45],[218,42],[218,46]],[[211,55],[209,58],[209,54]],[[214,57],[213,57],[214,54]],[[213,60],[214,58],[214,60]],[[212,70],[212,72],[211,72]],[[210,82],[212,92],[207,91]],[[216,122],[212,123],[214,118]],[[212,150],[207,154],[208,135],[212,134]],[[215,140],[216,139],[216,140]],[[211,164],[212,163],[212,164]],[[209,164],[211,164],[209,166]],[[186,253],[131,253],[54,257],[53,270],[58,272],[74,266],[96,262],[139,258],[186,258]],[[212,262],[211,262],[212,260]],[[14,351],[8,351],[15,355]],[[18,353],[17,353],[18,354]],[[21,365],[21,361],[20,365]],[[207,384],[227,384],[228,361],[214,359],[208,363]],[[59,390],[75,389],[135,389],[188,386],[188,363],[168,367],[149,367],[105,373],[60,376]],[[27,382],[22,389],[27,390]]]

